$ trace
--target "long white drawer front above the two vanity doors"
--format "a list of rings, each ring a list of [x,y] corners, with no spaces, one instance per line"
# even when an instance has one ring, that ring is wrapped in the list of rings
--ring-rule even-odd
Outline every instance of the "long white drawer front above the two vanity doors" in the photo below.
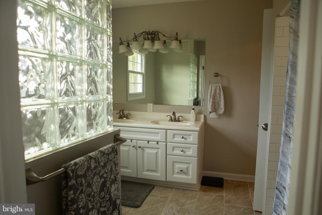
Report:
[[[156,142],[166,141],[166,130],[116,126],[114,126],[114,128],[121,129],[120,135],[126,139],[147,140]]]

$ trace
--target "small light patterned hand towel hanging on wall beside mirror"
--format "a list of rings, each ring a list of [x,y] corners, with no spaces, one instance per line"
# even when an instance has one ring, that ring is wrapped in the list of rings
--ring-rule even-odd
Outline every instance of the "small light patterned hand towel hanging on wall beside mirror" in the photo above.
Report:
[[[209,114],[223,114],[225,101],[221,84],[211,84],[208,92],[208,112]]]

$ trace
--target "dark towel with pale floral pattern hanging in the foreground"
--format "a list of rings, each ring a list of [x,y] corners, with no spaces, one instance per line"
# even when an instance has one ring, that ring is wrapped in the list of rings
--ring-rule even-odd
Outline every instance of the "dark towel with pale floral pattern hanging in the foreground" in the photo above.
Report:
[[[63,214],[121,214],[118,155],[114,144],[63,165]]]

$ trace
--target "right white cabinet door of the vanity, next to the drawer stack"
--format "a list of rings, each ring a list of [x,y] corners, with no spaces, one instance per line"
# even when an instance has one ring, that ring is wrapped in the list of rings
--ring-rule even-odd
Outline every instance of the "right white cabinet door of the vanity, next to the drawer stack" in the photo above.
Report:
[[[137,177],[166,180],[166,143],[137,140]]]

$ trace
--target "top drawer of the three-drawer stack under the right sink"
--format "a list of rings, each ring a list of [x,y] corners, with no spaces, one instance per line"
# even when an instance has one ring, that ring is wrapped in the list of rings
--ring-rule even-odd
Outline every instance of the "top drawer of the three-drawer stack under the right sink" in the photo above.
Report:
[[[121,130],[121,135],[122,135],[122,130]],[[168,142],[178,142],[180,144],[197,144],[198,132],[168,130]]]

